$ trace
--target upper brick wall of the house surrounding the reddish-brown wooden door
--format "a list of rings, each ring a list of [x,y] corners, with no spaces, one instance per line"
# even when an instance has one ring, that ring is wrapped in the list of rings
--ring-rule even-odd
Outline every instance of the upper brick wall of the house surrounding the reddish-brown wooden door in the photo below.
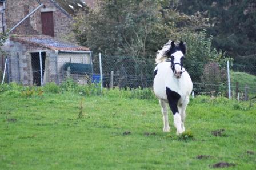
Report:
[[[70,33],[70,25],[73,23],[73,18],[66,13],[57,3],[52,0],[41,0],[45,5],[38,9],[33,15],[27,18],[19,25],[12,34],[18,35],[38,35],[42,34],[41,12],[53,11],[54,19],[54,36],[61,38],[63,35]],[[6,1],[6,24],[7,28],[11,29],[21,19],[26,17],[39,3],[35,0],[8,0]]]

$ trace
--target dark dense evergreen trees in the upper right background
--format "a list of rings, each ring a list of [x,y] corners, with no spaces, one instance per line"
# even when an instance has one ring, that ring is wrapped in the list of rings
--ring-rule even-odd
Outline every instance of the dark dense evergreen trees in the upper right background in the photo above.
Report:
[[[227,51],[235,63],[256,65],[256,2],[254,0],[187,1],[180,0],[176,8],[187,15],[197,11],[207,13],[213,35],[213,45]]]

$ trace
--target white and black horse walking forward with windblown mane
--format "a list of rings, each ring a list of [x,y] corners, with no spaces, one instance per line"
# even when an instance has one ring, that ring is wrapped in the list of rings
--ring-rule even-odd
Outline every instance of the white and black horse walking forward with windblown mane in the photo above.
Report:
[[[186,46],[181,41],[178,46],[169,41],[158,51],[157,67],[154,70],[154,92],[162,107],[163,132],[170,132],[167,104],[173,112],[177,135],[185,131],[185,110],[192,91],[189,73],[183,67]]]

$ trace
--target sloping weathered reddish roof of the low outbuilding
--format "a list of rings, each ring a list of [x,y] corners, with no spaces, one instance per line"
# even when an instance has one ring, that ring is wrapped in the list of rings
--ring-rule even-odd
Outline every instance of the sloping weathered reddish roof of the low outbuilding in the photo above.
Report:
[[[35,44],[51,50],[90,51],[90,49],[87,47],[79,46],[78,44],[70,42],[64,42],[47,35],[17,36],[10,37],[10,40]]]

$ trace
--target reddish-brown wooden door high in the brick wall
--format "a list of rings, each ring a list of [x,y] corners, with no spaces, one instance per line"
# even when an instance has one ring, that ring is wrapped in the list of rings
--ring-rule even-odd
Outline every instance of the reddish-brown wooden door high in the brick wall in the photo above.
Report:
[[[53,12],[41,13],[42,33],[54,37]]]

